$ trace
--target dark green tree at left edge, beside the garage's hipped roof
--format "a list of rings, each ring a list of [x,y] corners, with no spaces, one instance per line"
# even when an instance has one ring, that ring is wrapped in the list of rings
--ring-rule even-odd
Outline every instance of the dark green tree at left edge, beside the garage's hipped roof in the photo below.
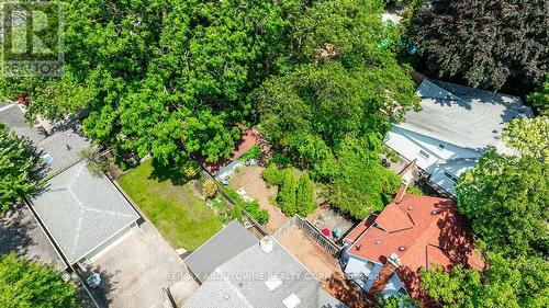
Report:
[[[0,123],[0,214],[41,187],[43,162],[31,141]]]

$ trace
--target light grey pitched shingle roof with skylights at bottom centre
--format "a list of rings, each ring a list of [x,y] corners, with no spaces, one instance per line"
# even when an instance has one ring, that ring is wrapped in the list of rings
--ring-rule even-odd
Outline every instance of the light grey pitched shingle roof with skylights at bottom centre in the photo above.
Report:
[[[290,252],[276,240],[272,244],[272,251],[266,253],[256,240],[254,246],[220,265],[183,307],[284,307],[282,300],[291,294],[300,298],[298,307],[345,307],[326,294],[321,283]],[[282,284],[270,290],[265,282],[272,276],[280,278]]]

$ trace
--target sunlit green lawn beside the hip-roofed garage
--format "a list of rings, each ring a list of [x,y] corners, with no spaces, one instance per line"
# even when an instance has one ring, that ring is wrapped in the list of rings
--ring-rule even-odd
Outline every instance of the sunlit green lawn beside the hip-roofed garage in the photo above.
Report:
[[[195,250],[222,228],[220,217],[189,184],[152,179],[150,160],[122,176],[120,185],[173,248]]]

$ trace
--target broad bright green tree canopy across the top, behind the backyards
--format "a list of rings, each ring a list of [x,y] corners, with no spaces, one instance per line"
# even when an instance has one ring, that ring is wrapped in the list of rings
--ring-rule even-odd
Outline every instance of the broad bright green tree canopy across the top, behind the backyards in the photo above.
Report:
[[[85,133],[119,156],[183,170],[195,156],[227,158],[238,124],[259,124],[294,166],[335,183],[349,176],[336,170],[344,139],[381,140],[418,107],[383,5],[76,0],[66,5],[63,76],[0,78],[1,96],[25,96],[30,118],[81,117]],[[373,156],[371,164],[379,170]]]

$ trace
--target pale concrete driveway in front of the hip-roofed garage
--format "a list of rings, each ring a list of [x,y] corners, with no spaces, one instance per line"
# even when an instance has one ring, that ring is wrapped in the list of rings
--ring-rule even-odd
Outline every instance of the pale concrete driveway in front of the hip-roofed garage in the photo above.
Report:
[[[178,285],[173,288],[177,301],[198,288],[182,260],[148,221],[102,253],[88,270],[101,274],[101,285],[92,294],[102,307],[171,307],[165,288]]]

